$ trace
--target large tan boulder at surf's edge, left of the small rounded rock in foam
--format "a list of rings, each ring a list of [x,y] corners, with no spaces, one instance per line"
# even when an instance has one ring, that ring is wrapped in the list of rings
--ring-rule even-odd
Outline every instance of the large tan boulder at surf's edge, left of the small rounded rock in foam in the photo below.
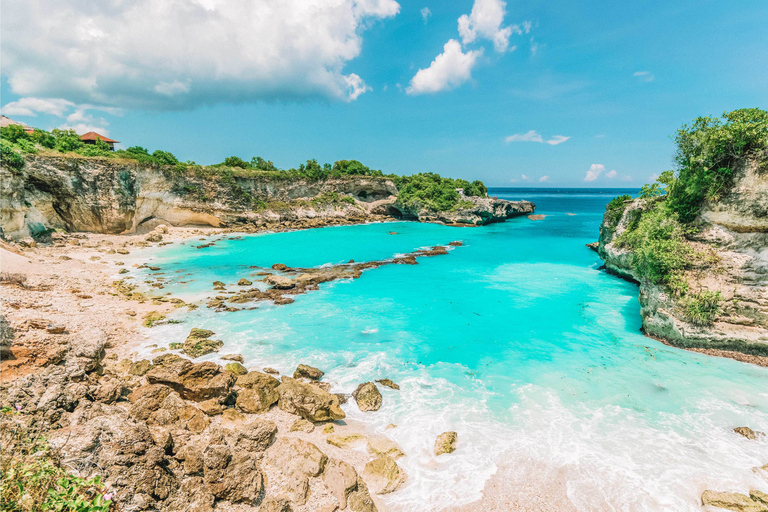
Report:
[[[296,379],[284,377],[277,387],[280,409],[297,414],[309,421],[340,420],[346,417],[339,407],[339,398],[317,386],[304,384]]]

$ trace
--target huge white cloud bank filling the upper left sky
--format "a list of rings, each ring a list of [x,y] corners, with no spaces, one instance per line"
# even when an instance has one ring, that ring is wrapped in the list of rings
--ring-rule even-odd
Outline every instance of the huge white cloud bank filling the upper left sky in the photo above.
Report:
[[[395,0],[4,2],[2,74],[19,96],[151,109],[369,90],[345,65]]]

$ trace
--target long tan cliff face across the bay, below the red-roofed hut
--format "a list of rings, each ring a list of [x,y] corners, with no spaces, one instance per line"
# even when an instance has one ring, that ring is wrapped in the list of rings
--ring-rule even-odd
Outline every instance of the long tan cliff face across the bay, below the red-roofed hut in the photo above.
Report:
[[[177,172],[134,161],[29,155],[22,170],[0,168],[3,236],[44,238],[55,229],[131,233],[158,223],[243,229],[313,227],[398,218],[482,225],[531,213],[532,203],[462,197],[455,211],[397,201],[387,178],[295,179],[197,168]]]

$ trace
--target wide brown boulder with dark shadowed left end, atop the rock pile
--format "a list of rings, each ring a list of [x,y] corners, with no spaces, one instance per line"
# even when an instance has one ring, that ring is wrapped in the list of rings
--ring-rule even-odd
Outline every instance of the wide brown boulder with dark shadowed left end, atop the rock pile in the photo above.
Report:
[[[168,386],[187,400],[202,402],[226,398],[235,384],[235,376],[216,363],[182,360],[172,366],[156,366],[146,373],[150,384]]]

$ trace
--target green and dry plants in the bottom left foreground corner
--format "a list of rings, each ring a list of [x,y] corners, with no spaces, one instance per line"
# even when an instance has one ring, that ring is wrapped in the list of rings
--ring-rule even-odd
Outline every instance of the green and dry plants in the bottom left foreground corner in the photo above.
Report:
[[[2,408],[3,415],[18,414]],[[13,512],[27,510],[57,512],[107,512],[112,495],[101,479],[70,475],[58,461],[57,453],[42,437],[29,436],[23,429],[7,431],[0,461],[0,503]]]

